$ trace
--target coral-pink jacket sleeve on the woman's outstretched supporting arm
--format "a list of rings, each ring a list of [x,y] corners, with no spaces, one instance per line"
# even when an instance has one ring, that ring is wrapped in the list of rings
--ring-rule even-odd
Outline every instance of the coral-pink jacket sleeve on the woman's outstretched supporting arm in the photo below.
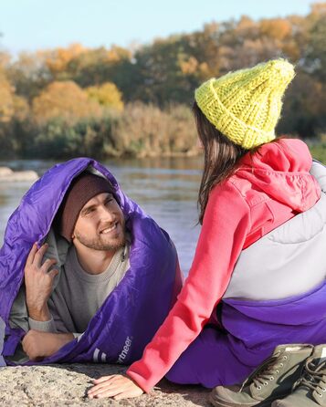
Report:
[[[250,231],[246,200],[229,182],[210,193],[193,265],[174,308],[127,374],[150,391],[195,340],[226,291]]]

